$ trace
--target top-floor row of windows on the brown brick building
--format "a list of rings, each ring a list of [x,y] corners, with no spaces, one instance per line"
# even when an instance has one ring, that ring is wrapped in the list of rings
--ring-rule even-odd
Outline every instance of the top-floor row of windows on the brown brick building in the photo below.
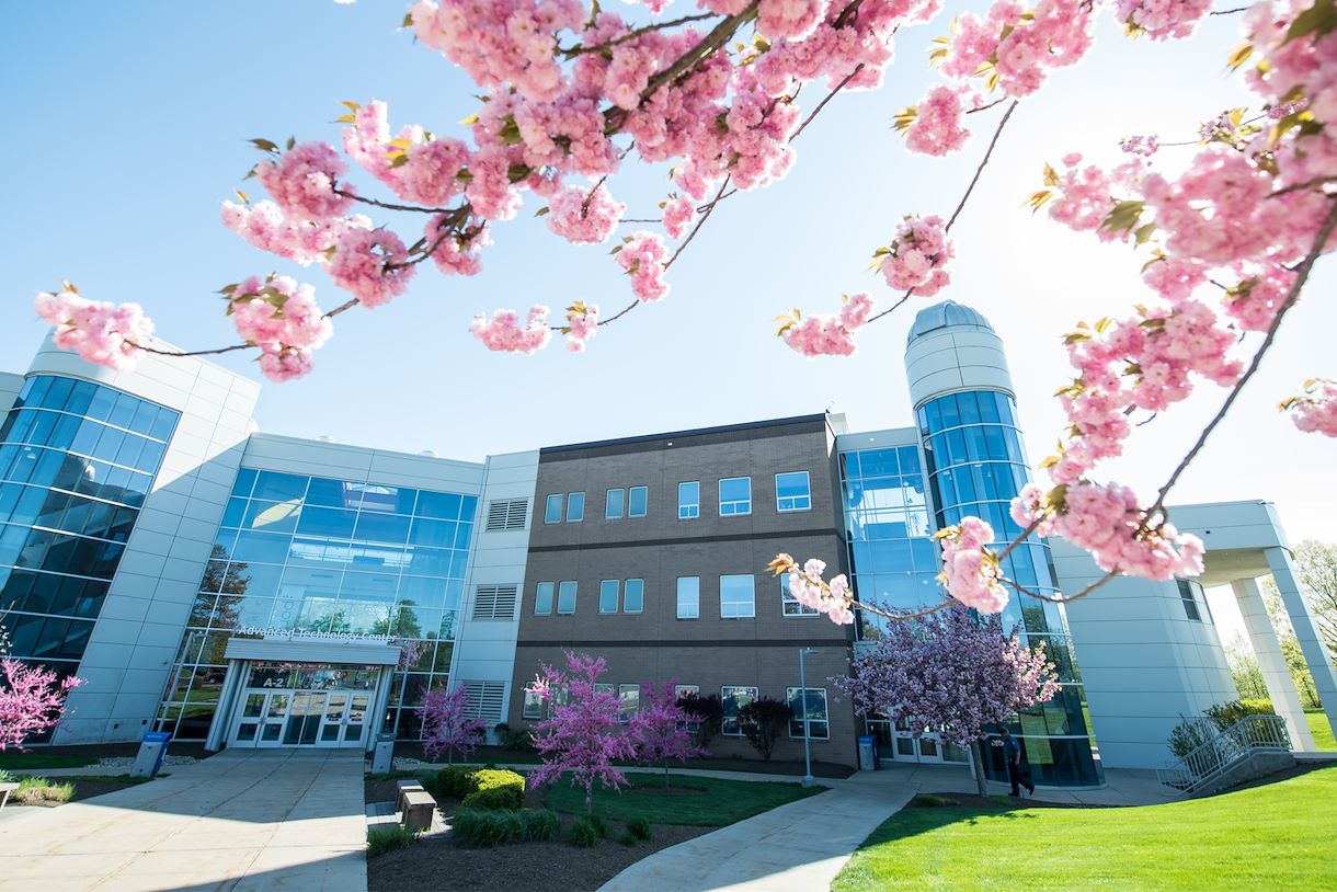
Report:
[[[751,477],[723,477],[719,480],[719,516],[735,518],[751,514]],[[547,496],[543,511],[544,523],[563,523],[563,503],[566,523],[584,520],[584,492],[554,492]],[[604,493],[604,520],[622,518],[644,518],[650,508],[648,487],[615,487]],[[790,471],[775,475],[775,511],[809,511],[813,507],[812,487],[806,471]],[[701,481],[686,480],[678,484],[678,519],[695,520],[701,516]]]

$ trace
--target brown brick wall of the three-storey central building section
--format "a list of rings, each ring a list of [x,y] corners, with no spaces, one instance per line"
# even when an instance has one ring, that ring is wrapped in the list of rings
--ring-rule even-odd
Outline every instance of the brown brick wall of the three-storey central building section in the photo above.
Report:
[[[812,510],[777,511],[775,475],[789,471],[808,471]],[[751,514],[721,518],[718,481],[739,476],[751,477]],[[679,520],[678,484],[689,480],[701,483],[701,516]],[[606,491],[638,485],[648,487],[647,515],[606,520]],[[544,523],[545,497],[570,492],[586,493],[584,520]],[[817,653],[806,659],[808,685],[828,689],[832,726],[829,742],[813,742],[813,758],[856,762],[856,717],[848,702],[834,702],[826,682],[849,670],[852,630],[824,617],[785,617],[779,582],[766,571],[779,551],[821,558],[828,576],[848,570],[825,416],[544,449],[533,506],[512,725],[525,723],[525,683],[541,663],[560,665],[563,650],[604,657],[608,671],[600,681],[614,685],[675,679],[703,694],[750,685],[783,699],[785,687],[798,686],[798,649],[809,646]],[[731,574],[753,574],[754,618],[721,618],[719,576]],[[677,618],[679,576],[701,579],[698,619]],[[602,579],[644,579],[643,611],[600,614]],[[536,583],[562,580],[578,583],[575,614],[535,615]],[[721,737],[711,752],[755,757],[743,738]],[[774,757],[802,758],[802,741],[782,738]]]

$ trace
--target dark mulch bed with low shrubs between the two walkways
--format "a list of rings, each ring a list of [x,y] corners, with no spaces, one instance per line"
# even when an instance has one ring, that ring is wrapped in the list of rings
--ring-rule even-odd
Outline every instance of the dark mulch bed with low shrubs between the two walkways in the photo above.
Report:
[[[366,781],[366,801],[394,798],[394,781]],[[689,790],[690,794],[695,790]],[[543,808],[543,793],[528,790],[527,808]],[[460,801],[439,802],[449,816]],[[451,840],[449,833],[424,836],[408,848],[366,861],[368,892],[416,889],[497,889],[499,892],[588,892],[659,849],[709,833],[709,826],[651,825],[648,841],[622,845],[622,821],[608,821],[608,839],[592,849],[579,849],[566,841],[575,814],[559,814],[560,841],[509,843],[497,848],[473,848]]]

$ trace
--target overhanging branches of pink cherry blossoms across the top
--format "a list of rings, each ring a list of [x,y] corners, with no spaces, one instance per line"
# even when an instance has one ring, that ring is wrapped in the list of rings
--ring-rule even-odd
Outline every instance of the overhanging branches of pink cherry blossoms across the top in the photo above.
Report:
[[[1112,167],[1083,163],[1076,152],[1062,154],[1058,166],[1036,159],[1043,174],[1031,207],[1132,247],[1147,292],[1122,314],[1070,326],[1063,342],[1072,377],[1058,395],[1067,425],[1042,463],[1048,484],[1012,504],[1024,534],[999,552],[989,546],[993,530],[976,518],[941,531],[949,598],[931,610],[960,602],[996,612],[1013,592],[1042,598],[1000,564],[1029,534],[1066,536],[1106,571],[1067,599],[1119,574],[1201,572],[1202,543],[1170,523],[1166,497],[1274,349],[1314,262],[1337,247],[1337,131],[1328,128],[1337,122],[1334,3],[1259,0],[1213,11],[1210,0],[993,0],[983,13],[961,12],[949,35],[933,39],[929,60],[941,79],[894,118],[906,147],[963,151],[975,122],[989,122],[983,128],[992,135],[951,214],[897,209],[889,243],[869,238],[882,242],[872,259],[892,289],[889,306],[857,293],[837,313],[779,317],[777,334],[802,356],[850,354],[866,325],[951,285],[952,227],[1008,122],[1051,75],[1087,55],[1100,16],[1111,15],[1131,37],[1165,41],[1190,37],[1209,15],[1239,15],[1242,40],[1233,51],[1222,47],[1221,60],[1254,102],[1195,134],[1186,126],[1165,140],[1130,135],[1126,160]],[[623,15],[579,0],[414,3],[404,28],[481,92],[464,118],[467,132],[392,128],[385,103],[346,102],[341,150],[254,139],[263,158],[251,175],[267,198],[238,191],[238,202],[223,203],[225,226],[295,267],[324,269],[342,294],[322,309],[293,275],[238,277],[221,293],[239,342],[195,353],[253,350],[273,380],[306,374],[336,317],[385,306],[422,269],[479,274],[488,245],[529,197],[559,238],[614,243],[628,302],[611,313],[584,301],[558,312],[541,304],[497,309],[469,329],[493,350],[533,353],[554,333],[584,350],[608,324],[666,300],[671,267],[721,202],[783,179],[796,140],[828,103],[878,88],[893,36],[943,27],[951,4],[701,0],[681,13],[666,12],[667,0],[644,5],[647,12]],[[616,201],[616,177],[660,163],[671,164],[673,185],[658,211],[628,211]],[[64,285],[40,294],[37,312],[57,344],[94,362],[124,368],[146,350],[175,353],[152,340],[152,322],[134,304],[90,301]],[[1136,427],[1202,386],[1225,391],[1219,409],[1154,496],[1104,479],[1104,463],[1126,452]],[[1337,382],[1314,377],[1297,389],[1282,403],[1296,427],[1337,437]],[[894,617],[854,603],[844,580],[825,582],[810,566],[794,574],[808,579],[802,596],[833,621],[850,622],[856,607]]]

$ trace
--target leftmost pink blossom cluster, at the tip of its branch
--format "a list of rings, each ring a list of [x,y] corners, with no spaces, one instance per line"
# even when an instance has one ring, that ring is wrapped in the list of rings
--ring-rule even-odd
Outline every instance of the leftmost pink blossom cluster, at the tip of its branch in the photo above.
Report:
[[[139,304],[88,301],[68,282],[59,293],[39,293],[35,306],[37,316],[55,329],[56,346],[112,369],[132,368],[143,354],[139,348],[154,333],[154,324]]]

